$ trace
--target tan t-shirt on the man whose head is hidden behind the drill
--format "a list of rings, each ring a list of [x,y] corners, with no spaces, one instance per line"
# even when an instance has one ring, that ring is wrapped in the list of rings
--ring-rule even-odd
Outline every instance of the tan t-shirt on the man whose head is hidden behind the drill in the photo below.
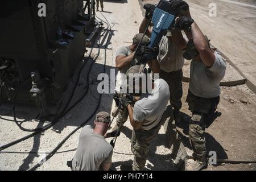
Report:
[[[159,43],[158,61],[162,71],[170,73],[183,68],[183,50],[176,47],[167,36],[163,36]]]

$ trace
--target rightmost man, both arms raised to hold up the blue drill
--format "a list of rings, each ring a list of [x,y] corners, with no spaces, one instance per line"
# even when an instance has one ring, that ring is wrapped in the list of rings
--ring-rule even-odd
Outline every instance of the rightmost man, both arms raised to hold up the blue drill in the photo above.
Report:
[[[192,112],[189,122],[189,140],[193,158],[186,160],[187,171],[199,171],[206,165],[205,127],[209,127],[220,101],[220,82],[225,76],[226,63],[216,48],[212,48],[207,36],[192,18],[182,16],[176,27],[191,27],[193,38],[189,40],[184,57],[191,60],[187,102]]]

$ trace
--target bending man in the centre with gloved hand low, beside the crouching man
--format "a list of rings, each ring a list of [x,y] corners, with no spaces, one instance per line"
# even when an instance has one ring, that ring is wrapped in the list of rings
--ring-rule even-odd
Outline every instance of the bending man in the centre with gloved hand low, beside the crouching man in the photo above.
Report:
[[[143,84],[146,86],[145,88],[148,88],[147,85],[151,84],[152,90],[142,93],[141,98],[135,103],[134,107],[129,100],[123,99],[121,101],[122,106],[127,108],[130,123],[133,126],[131,151],[134,154],[133,170],[135,171],[144,169],[150,142],[158,134],[162,116],[170,98],[169,86],[163,79],[157,79],[154,82],[146,81],[147,84],[142,82],[144,73],[142,68],[143,65],[136,65],[131,67],[127,74],[129,76],[133,74],[134,80],[139,80],[140,89],[143,88]]]

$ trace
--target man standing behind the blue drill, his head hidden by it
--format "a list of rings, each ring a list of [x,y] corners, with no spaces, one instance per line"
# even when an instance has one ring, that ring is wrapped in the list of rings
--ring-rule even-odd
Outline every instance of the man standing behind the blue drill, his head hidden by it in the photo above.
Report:
[[[143,19],[139,32],[144,32],[147,24],[152,18],[155,6],[147,4],[145,18]],[[172,9],[176,7],[170,7]],[[176,9],[187,9],[188,6],[177,6]],[[146,30],[146,35],[150,38],[152,27]],[[170,104],[173,107],[175,123],[181,122],[180,109],[182,107],[181,97],[183,95],[182,78],[184,66],[183,52],[187,46],[186,40],[183,38],[181,31],[178,29],[170,30],[166,36],[159,42],[159,55],[157,60],[160,64],[160,78],[163,78],[170,88]]]

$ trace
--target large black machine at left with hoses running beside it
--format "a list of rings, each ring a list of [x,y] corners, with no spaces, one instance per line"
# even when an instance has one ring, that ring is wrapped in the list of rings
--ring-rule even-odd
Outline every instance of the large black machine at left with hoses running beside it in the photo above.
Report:
[[[95,25],[94,0],[2,0],[1,100],[35,104],[47,115],[83,60]]]

